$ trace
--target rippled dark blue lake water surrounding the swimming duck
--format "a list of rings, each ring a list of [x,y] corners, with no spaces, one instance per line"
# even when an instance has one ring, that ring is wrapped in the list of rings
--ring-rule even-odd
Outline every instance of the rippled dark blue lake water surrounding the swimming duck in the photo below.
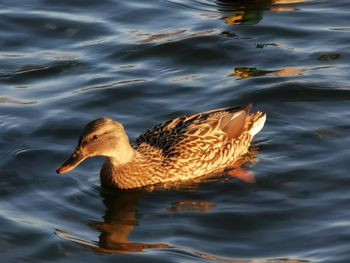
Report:
[[[0,1],[2,262],[350,262],[346,0]],[[254,103],[255,184],[100,187],[56,168],[109,116],[132,139]]]

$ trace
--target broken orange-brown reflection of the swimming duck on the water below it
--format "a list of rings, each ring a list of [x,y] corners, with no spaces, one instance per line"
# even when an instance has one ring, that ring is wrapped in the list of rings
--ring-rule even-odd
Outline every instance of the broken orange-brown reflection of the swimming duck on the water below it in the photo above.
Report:
[[[252,173],[244,167],[250,167],[257,162],[257,147],[251,147],[249,153],[238,160],[234,166],[225,170],[226,177],[235,177],[245,182],[252,183]],[[142,190],[102,190],[101,196],[106,207],[103,222],[89,223],[90,227],[100,232],[97,242],[81,239],[62,230],[56,230],[56,234],[64,239],[79,243],[99,253],[132,253],[142,252],[146,249],[170,249],[174,248],[165,243],[135,243],[129,240],[129,236],[138,226],[136,213],[142,197],[154,191],[196,191],[203,183],[218,180],[218,176],[209,175],[190,182],[171,183],[169,185],[156,185],[143,188]],[[169,204],[166,209],[169,213],[189,212],[203,213],[211,212],[215,204],[204,200],[177,200]],[[176,249],[179,249],[178,247]],[[187,251],[188,249],[186,249]],[[195,252],[197,254],[197,252]],[[198,252],[199,253],[199,252]],[[200,253],[204,255],[204,253]]]

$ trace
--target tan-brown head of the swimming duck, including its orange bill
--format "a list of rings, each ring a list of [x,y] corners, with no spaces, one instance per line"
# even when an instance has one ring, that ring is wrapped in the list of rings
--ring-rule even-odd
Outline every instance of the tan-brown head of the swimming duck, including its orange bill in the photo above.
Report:
[[[85,126],[78,146],[57,169],[57,173],[69,172],[89,157],[105,156],[116,163],[125,163],[132,158],[132,154],[123,125],[109,118],[97,119]]]

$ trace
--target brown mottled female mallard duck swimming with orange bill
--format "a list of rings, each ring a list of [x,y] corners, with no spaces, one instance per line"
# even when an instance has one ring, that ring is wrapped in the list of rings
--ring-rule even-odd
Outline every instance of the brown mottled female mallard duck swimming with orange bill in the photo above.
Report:
[[[187,115],[155,126],[132,146],[124,127],[112,119],[86,125],[72,156],[57,173],[85,159],[105,156],[103,187],[136,188],[194,179],[223,171],[248,151],[266,115],[252,105]]]

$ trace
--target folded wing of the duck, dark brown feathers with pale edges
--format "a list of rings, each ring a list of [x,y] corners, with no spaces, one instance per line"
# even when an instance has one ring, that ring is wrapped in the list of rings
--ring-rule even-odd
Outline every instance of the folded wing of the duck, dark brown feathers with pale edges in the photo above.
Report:
[[[165,158],[205,154],[208,149],[235,141],[244,132],[251,107],[248,104],[169,120],[141,134],[136,143],[161,150]]]

